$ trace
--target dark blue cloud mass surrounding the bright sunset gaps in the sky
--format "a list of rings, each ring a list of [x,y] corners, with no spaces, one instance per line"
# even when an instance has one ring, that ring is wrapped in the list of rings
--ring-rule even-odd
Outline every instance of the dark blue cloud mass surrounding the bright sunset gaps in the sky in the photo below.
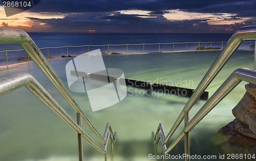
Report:
[[[95,0],[95,1],[62,1],[44,0],[30,9],[30,12],[41,12],[42,14],[65,14],[63,18],[34,18],[35,24],[46,24],[51,31],[70,30],[96,30],[96,32],[232,32],[240,26],[256,24],[256,0]],[[170,13],[169,10],[211,13],[205,18],[193,20],[166,19],[163,14]],[[148,14],[121,14],[121,10],[144,10]],[[175,12],[175,11],[172,11]],[[233,16],[225,16],[225,13],[233,13]],[[244,23],[241,23],[244,17]],[[207,21],[217,18],[218,21],[238,21],[233,25],[209,25]],[[230,30],[226,30],[230,29]]]

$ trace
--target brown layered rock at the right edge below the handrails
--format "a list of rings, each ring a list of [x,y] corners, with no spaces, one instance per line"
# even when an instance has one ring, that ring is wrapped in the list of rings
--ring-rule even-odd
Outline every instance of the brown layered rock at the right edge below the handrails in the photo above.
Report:
[[[237,106],[232,109],[232,113],[241,122],[248,125],[249,129],[256,134],[256,86],[247,84],[245,89],[245,95]]]

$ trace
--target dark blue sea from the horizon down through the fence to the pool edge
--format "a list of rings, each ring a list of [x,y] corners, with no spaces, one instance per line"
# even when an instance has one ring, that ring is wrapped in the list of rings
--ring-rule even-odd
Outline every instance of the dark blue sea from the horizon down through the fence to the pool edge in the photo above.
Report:
[[[153,43],[183,43],[183,42],[227,42],[230,33],[53,33],[53,32],[31,32],[28,33],[39,48],[81,46],[81,45],[120,45],[120,44],[153,44]],[[195,50],[198,43],[189,44],[187,50]],[[202,43],[200,46],[209,47],[210,43]],[[221,43],[212,44],[212,47],[221,47]],[[0,51],[22,49],[18,44],[0,44]],[[90,51],[100,49],[101,53],[119,52],[123,54],[143,53],[142,45],[93,47]],[[174,51],[186,50],[186,44],[175,44]],[[145,45],[145,53],[158,52],[158,45]],[[161,45],[160,52],[173,51],[173,44]],[[47,57],[60,58],[67,55],[66,47],[41,49]],[[88,52],[88,47],[69,47],[69,55],[80,55]],[[8,64],[16,64],[19,57],[26,57],[24,51],[8,51]],[[6,53],[0,52],[0,66],[5,66]]]

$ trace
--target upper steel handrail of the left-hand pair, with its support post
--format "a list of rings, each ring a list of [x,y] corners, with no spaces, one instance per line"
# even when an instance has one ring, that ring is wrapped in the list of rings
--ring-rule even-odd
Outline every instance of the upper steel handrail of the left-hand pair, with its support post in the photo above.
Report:
[[[77,122],[81,125],[80,120],[82,119],[84,123],[93,131],[93,133],[101,140],[102,143],[105,144],[105,138],[102,137],[96,128],[93,126],[89,118],[84,114],[80,106],[77,104],[76,100],[66,88],[66,86],[62,83],[61,79],[57,75],[57,73],[53,70],[45,56],[41,53],[38,47],[35,45],[30,36],[23,30],[18,29],[5,29],[0,28],[0,44],[14,44],[17,43],[28,53],[34,63],[39,67],[39,69],[46,75],[49,81],[55,86],[55,88],[59,91],[59,93],[66,99],[69,105],[77,112]],[[111,128],[110,128],[111,129]],[[110,136],[112,140],[115,140],[115,136],[110,130]],[[84,134],[78,134],[78,145],[79,151],[79,159],[82,159],[82,142],[81,137],[84,138]],[[86,139],[87,140],[87,139]],[[89,143],[89,140],[87,140]],[[114,142],[113,142],[114,144]],[[95,146],[96,148],[97,146]],[[113,147],[113,146],[112,146]],[[103,152],[104,150],[96,148],[98,151]]]

